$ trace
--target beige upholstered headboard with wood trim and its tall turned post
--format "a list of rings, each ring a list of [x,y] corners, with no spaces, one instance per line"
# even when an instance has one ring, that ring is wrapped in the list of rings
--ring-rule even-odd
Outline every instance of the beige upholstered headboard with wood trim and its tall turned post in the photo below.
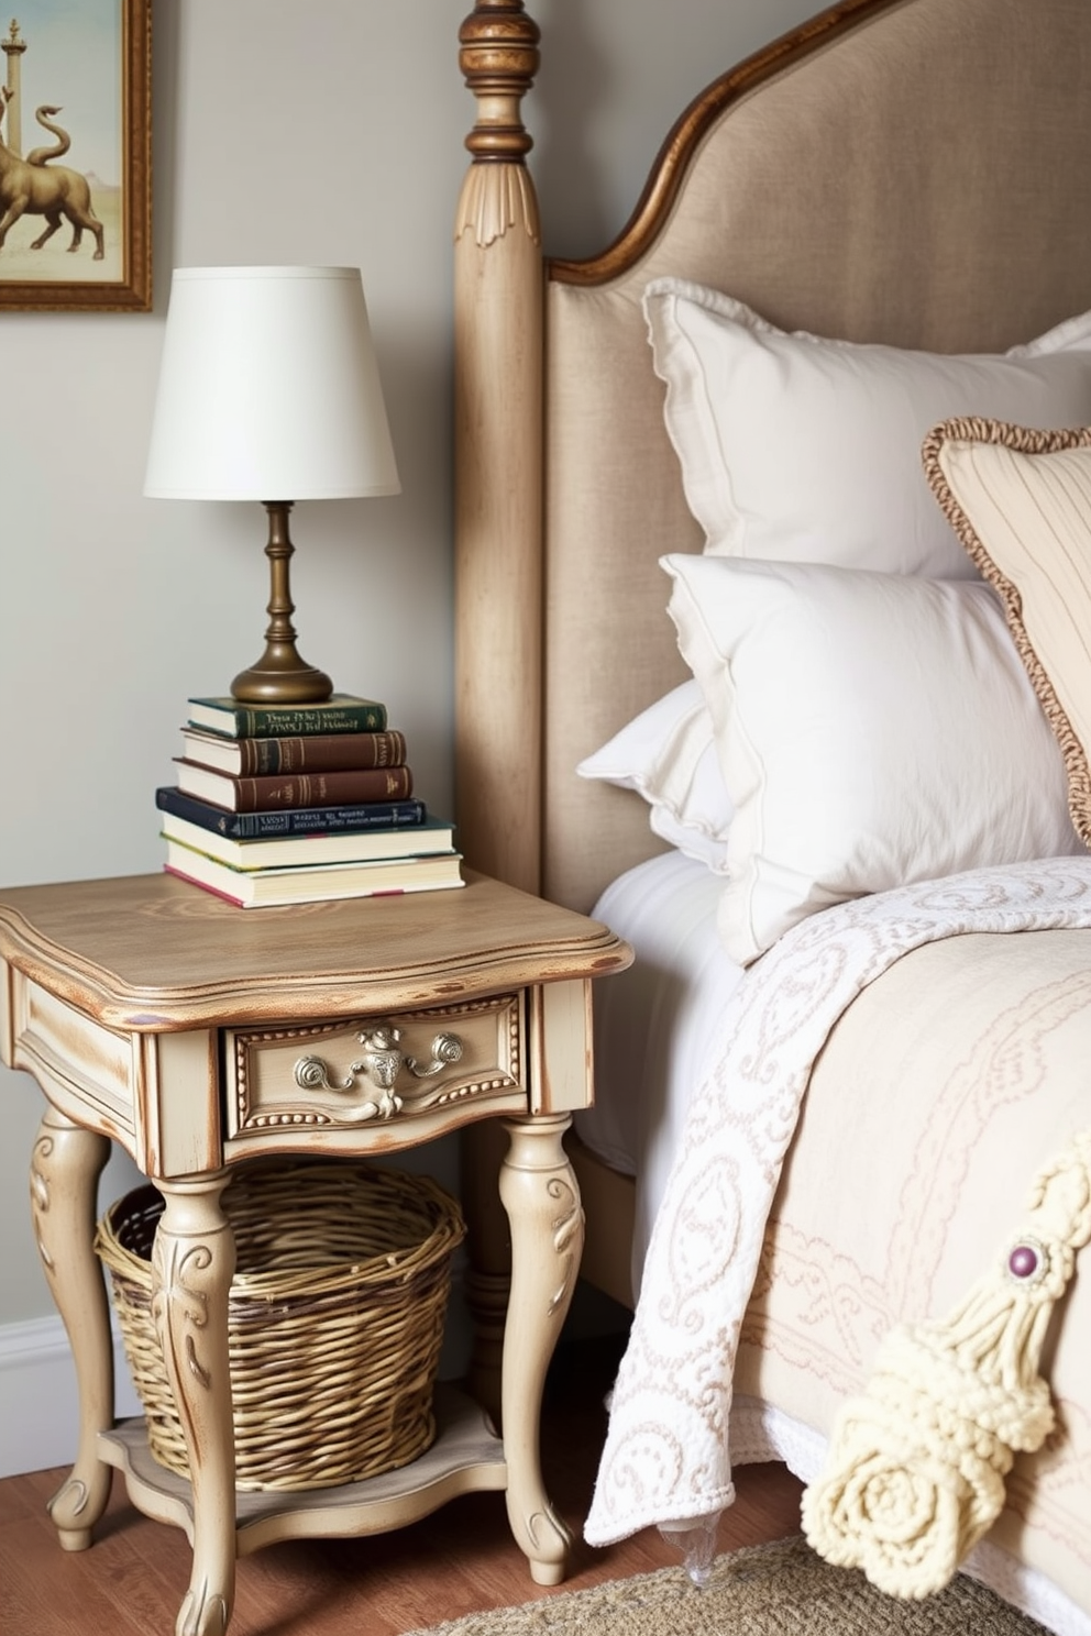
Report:
[[[658,849],[576,762],[684,679],[664,551],[700,550],[640,298],[999,350],[1091,306],[1089,0],[844,0],[679,119],[630,226],[543,260],[522,0],[478,0],[456,219],[456,820],[468,862],[587,910]]]

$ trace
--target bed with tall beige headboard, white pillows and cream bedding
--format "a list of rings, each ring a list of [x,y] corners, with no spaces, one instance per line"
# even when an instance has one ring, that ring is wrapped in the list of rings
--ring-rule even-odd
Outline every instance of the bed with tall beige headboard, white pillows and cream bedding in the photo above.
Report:
[[[1088,1636],[1091,8],[842,0],[587,262],[543,254],[540,49],[463,25],[456,816],[636,951],[572,1140],[635,1307],[587,1536],[697,1562],[777,1458],[821,1544],[957,1355],[999,1420],[924,1404],[983,1507],[932,1531]],[[860,1566],[927,1595],[929,1553]]]

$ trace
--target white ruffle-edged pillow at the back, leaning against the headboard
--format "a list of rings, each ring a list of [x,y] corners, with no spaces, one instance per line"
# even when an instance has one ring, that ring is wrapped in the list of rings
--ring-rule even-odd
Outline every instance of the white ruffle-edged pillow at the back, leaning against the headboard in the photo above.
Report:
[[[705,550],[975,578],[921,473],[954,416],[1091,422],[1091,312],[1003,355],[945,357],[785,334],[679,278],[644,291],[664,416]]]

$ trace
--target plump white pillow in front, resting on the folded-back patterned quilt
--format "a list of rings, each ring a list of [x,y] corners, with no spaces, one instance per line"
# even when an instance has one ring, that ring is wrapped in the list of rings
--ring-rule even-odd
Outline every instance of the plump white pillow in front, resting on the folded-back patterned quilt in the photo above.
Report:
[[[1062,753],[990,586],[661,563],[734,802],[720,934],[741,965],[831,903],[1081,851]]]

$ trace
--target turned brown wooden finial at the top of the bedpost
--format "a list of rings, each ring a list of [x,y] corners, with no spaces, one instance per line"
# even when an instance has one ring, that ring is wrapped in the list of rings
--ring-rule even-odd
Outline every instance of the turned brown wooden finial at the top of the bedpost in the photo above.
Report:
[[[523,0],[476,0],[458,31],[458,65],[478,98],[478,123],[466,137],[474,164],[520,165],[533,147],[520,103],[538,72],[541,34]]]

